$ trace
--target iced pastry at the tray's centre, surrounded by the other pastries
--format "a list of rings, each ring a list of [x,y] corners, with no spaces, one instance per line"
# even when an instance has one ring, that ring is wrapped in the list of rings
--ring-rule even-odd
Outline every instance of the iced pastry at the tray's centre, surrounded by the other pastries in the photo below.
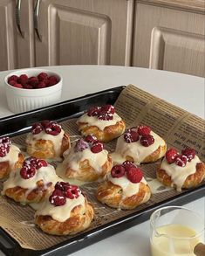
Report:
[[[64,156],[62,166],[65,176],[84,182],[103,178],[113,166],[112,158],[104,149],[103,143],[92,135],[73,143]]]

